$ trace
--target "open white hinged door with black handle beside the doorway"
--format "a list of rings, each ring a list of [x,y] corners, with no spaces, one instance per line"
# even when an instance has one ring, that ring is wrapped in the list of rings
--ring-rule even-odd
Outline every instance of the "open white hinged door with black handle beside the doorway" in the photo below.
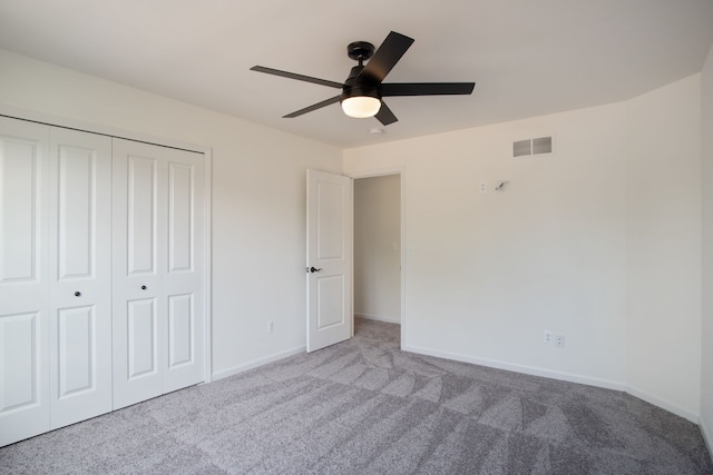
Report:
[[[307,352],[351,338],[352,179],[307,170]]]

